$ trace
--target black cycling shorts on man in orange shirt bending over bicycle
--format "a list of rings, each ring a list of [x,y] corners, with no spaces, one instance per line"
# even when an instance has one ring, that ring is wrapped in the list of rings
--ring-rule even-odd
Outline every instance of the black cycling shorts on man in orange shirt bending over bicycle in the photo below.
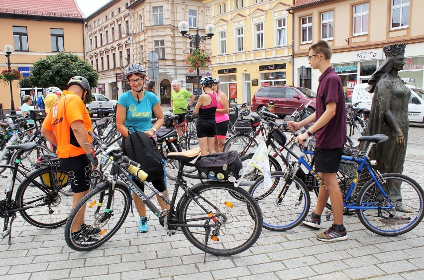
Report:
[[[86,154],[68,158],[59,158],[60,167],[69,173],[72,192],[84,192],[90,189],[91,164]]]

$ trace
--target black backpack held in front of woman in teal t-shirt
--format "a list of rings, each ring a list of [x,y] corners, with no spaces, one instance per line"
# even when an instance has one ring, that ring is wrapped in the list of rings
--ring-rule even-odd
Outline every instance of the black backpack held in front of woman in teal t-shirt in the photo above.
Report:
[[[164,162],[153,139],[143,132],[131,133],[125,139],[127,156],[138,162],[140,168],[149,176],[147,182],[155,181],[164,176]]]

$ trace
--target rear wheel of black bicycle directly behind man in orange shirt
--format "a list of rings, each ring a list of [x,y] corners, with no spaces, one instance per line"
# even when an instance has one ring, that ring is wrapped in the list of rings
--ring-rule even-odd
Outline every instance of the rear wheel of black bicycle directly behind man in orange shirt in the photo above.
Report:
[[[42,167],[28,175],[18,187],[16,202],[19,208],[34,206],[20,211],[22,217],[31,225],[39,228],[56,228],[65,224],[72,197],[59,193],[67,188],[68,173],[60,167]]]

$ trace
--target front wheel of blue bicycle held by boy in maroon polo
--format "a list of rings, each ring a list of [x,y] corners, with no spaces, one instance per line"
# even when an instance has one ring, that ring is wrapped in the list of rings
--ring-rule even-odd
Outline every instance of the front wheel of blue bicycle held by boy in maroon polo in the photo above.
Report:
[[[262,209],[264,228],[272,231],[292,229],[308,215],[311,206],[309,191],[298,177],[290,184],[286,183],[285,172],[271,172],[271,178],[273,185],[267,187],[264,177],[259,177],[249,193]]]

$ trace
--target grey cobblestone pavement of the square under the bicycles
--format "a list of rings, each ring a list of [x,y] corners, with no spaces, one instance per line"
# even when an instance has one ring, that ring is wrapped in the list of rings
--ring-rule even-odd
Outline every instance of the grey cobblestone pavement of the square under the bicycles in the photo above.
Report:
[[[410,128],[404,172],[422,186],[423,132],[424,128]],[[7,185],[6,179],[0,184]],[[244,253],[207,255],[203,264],[204,254],[181,232],[168,237],[156,217],[150,218],[149,232],[142,234],[136,213],[130,213],[106,244],[75,252],[64,241],[63,227],[38,229],[18,217],[12,245],[0,240],[0,280],[424,279],[424,223],[407,234],[383,237],[366,230],[355,215],[345,216],[349,239],[329,244],[319,242],[318,232],[303,225],[286,232],[264,229]],[[325,229],[330,222],[321,225]]]

